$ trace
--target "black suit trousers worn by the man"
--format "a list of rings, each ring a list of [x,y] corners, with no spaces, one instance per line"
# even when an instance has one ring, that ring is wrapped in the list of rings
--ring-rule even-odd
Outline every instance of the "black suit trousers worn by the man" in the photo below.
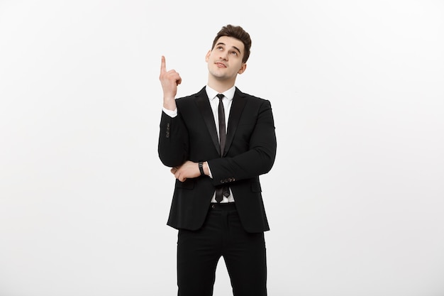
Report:
[[[244,231],[235,204],[211,204],[201,229],[179,230],[177,295],[213,295],[216,265],[221,256],[226,263],[233,295],[267,295],[264,233]]]

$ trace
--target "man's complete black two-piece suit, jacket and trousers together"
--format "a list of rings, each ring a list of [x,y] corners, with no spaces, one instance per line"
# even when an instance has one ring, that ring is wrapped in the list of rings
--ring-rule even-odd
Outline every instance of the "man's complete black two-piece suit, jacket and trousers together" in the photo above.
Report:
[[[212,295],[223,256],[235,295],[265,296],[263,233],[270,228],[259,175],[270,171],[276,155],[271,104],[235,89],[223,157],[205,87],[176,104],[177,116],[162,112],[160,160],[169,167],[206,161],[212,175],[176,180],[167,224],[179,229],[178,295]],[[234,204],[210,207],[215,188],[223,185],[231,188]]]

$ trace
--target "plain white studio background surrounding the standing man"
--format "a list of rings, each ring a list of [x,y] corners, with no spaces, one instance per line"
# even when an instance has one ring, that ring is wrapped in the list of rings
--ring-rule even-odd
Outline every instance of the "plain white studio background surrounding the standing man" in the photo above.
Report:
[[[275,117],[269,295],[444,295],[443,1],[6,0],[0,296],[177,294],[160,57],[199,91],[227,23]]]

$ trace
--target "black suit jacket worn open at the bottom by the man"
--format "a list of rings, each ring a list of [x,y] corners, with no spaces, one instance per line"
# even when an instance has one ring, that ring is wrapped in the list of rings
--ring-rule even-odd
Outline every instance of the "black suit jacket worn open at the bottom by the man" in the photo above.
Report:
[[[199,229],[215,188],[229,185],[245,231],[269,230],[259,176],[271,170],[276,156],[270,102],[244,94],[236,87],[222,158],[205,87],[189,97],[176,99],[176,104],[176,117],[162,112],[160,160],[168,167],[182,165],[186,160],[207,161],[213,178],[176,180],[167,224],[175,229]]]

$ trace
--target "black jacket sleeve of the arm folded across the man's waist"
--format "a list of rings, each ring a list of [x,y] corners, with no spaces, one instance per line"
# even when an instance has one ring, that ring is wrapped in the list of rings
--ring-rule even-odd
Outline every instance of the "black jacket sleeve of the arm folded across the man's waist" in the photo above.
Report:
[[[264,100],[250,134],[248,149],[224,158],[208,160],[213,185],[243,180],[269,172],[276,157],[277,141],[270,101]]]

